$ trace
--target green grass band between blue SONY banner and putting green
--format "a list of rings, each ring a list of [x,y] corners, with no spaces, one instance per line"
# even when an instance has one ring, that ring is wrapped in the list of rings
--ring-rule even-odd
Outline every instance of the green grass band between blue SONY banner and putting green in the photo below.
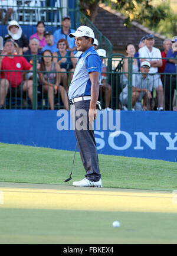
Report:
[[[74,150],[74,149],[73,149]],[[54,150],[24,145],[0,143],[1,182],[64,184],[73,163],[73,151]],[[177,189],[177,164],[117,155],[99,154],[104,187],[124,189]],[[76,153],[73,180],[83,179],[86,171]]]

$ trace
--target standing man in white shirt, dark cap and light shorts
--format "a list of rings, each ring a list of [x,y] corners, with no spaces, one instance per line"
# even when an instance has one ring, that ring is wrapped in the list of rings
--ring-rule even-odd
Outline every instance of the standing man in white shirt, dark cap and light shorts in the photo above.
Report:
[[[158,73],[158,67],[162,66],[162,59],[160,50],[156,47],[153,47],[155,44],[154,36],[152,34],[146,35],[145,40],[146,46],[139,49],[140,61],[149,61],[150,71],[149,74],[153,76],[153,88],[156,90],[156,96],[159,99],[158,110],[163,110],[163,86],[162,80]],[[153,58],[153,59],[152,59]]]

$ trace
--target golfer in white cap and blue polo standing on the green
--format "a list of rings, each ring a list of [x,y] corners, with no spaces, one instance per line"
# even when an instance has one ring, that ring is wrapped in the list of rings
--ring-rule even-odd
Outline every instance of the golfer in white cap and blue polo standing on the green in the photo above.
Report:
[[[94,33],[87,26],[80,26],[69,37],[76,40],[77,51],[82,54],[68,89],[71,103],[71,117],[74,124],[78,149],[86,170],[85,179],[73,182],[78,187],[102,187],[94,138],[93,123],[96,119],[96,105],[99,97],[99,79],[102,61],[93,47]]]

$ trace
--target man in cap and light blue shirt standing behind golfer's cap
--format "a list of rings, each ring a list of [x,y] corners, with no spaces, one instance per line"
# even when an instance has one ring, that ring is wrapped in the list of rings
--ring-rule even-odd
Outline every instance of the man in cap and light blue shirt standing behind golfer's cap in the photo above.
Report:
[[[75,39],[74,39],[74,37],[73,38],[69,37],[70,33],[75,32],[75,30],[70,28],[70,26],[71,26],[70,17],[68,17],[68,16],[64,17],[61,22],[61,25],[62,25],[62,27],[59,28],[58,30],[56,30],[54,33],[54,43],[57,44],[61,38],[64,38],[65,40],[68,41],[69,47],[67,50],[73,51],[73,53],[75,54],[76,53]]]

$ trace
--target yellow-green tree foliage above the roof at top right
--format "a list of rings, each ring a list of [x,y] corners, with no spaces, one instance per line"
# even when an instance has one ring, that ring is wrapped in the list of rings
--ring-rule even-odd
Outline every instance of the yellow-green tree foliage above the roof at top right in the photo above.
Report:
[[[177,15],[169,0],[80,0],[80,10],[91,22],[97,15],[99,3],[109,5],[126,16],[127,27],[137,21],[156,33],[172,37],[177,34]],[[104,18],[104,17],[103,17]]]

